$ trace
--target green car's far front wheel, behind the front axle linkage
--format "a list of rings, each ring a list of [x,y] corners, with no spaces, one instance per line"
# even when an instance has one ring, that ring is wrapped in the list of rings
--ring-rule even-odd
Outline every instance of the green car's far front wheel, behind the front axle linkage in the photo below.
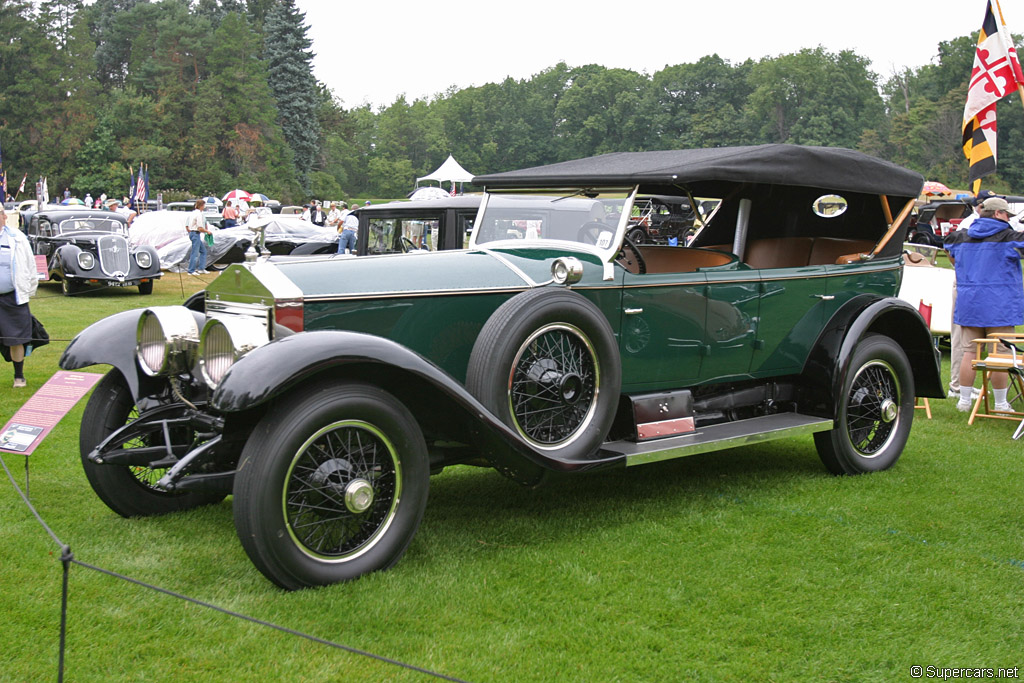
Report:
[[[166,468],[97,465],[88,459],[89,453],[103,439],[137,417],[138,411],[128,383],[116,370],[106,373],[103,379],[99,380],[82,414],[82,428],[79,432],[82,467],[92,489],[111,510],[123,517],[144,517],[188,510],[201,505],[218,503],[224,499],[220,494],[168,493],[157,488],[156,483],[167,473]],[[175,429],[171,436],[175,442],[188,444],[194,435]],[[146,439],[140,438],[126,443],[124,447],[147,445],[150,444]]]

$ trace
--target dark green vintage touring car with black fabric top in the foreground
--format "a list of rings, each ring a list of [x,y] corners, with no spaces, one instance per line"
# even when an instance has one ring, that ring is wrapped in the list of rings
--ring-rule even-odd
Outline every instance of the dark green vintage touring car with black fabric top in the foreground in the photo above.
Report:
[[[763,145],[475,182],[468,249],[232,265],[84,330],[61,367],[113,366],[82,420],[99,498],[134,516],[233,494],[243,548],[297,589],[396,562],[449,465],[534,485],[813,434],[856,474],[899,458],[915,394],[944,395],[895,298],[916,173]],[[640,195],[689,198],[692,243],[631,243]]]

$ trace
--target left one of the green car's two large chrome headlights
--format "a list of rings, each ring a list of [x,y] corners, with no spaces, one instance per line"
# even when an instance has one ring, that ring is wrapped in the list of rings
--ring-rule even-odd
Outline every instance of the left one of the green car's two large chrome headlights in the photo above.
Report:
[[[135,355],[151,377],[191,369],[199,345],[199,326],[184,306],[155,306],[138,318]]]

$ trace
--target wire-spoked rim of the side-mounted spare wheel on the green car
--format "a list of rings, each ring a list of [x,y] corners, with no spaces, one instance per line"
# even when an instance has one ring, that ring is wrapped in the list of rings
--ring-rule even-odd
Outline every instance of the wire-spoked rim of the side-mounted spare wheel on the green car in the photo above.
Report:
[[[579,328],[554,324],[534,333],[509,378],[509,405],[519,433],[542,446],[572,439],[594,415],[599,373],[597,353]]]

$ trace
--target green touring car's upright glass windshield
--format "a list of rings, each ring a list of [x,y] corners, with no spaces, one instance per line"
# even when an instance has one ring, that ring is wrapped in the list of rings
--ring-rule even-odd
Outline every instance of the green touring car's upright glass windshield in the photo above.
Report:
[[[632,194],[583,190],[551,195],[487,195],[471,246],[500,242],[569,242],[598,252],[612,252],[629,216]],[[606,254],[607,255],[607,254]]]

